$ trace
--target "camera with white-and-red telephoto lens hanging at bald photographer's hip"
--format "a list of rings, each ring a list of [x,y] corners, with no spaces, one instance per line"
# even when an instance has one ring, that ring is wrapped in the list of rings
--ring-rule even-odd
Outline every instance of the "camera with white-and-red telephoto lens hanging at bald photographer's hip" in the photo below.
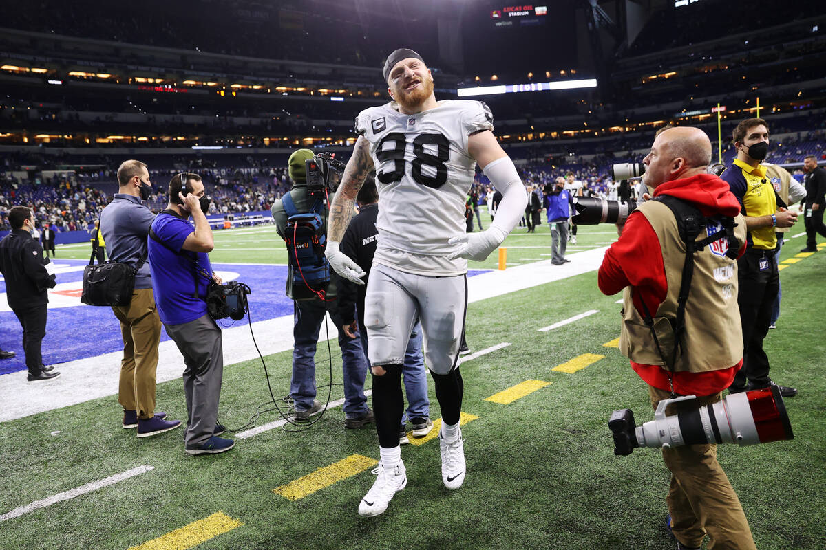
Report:
[[[736,443],[741,447],[794,439],[780,389],[772,385],[732,393],[722,401],[666,416],[670,403],[695,396],[663,399],[654,420],[634,425],[629,409],[614,411],[608,427],[614,434],[615,454],[631,454],[635,447],[669,449],[683,445]]]

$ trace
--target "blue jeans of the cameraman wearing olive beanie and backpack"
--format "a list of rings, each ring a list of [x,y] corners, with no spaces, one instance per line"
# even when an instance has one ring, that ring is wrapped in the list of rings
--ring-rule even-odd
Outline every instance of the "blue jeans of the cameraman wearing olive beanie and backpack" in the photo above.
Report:
[[[317,299],[293,302],[292,336],[292,380],[290,396],[297,411],[312,407],[316,398],[316,344],[327,313],[327,304]],[[364,396],[364,378],[367,375],[367,360],[358,335],[350,338],[341,327],[344,321],[338,314],[331,314],[339,331],[342,367],[344,369],[344,416],[361,416],[367,412],[367,397]]]

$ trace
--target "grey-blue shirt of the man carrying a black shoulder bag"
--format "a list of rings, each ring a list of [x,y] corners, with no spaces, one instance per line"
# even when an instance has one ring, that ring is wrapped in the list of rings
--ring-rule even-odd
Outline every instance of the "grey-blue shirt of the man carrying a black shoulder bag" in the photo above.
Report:
[[[101,213],[101,233],[107,256],[112,261],[135,266],[146,253],[146,239],[154,214],[138,197],[116,193]],[[135,289],[151,289],[149,261],[135,275]]]

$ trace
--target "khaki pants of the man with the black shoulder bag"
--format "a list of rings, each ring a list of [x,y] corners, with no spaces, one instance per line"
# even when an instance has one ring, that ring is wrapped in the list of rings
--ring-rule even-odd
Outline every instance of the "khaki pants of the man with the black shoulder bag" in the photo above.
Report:
[[[123,360],[118,401],[140,420],[154,416],[155,369],[158,367],[160,317],[152,289],[135,289],[128,306],[112,306],[121,322]]]

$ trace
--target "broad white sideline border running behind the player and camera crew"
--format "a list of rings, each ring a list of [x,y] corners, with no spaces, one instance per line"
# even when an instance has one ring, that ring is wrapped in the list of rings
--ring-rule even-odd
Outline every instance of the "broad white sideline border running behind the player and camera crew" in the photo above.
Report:
[[[605,250],[606,247],[601,247],[571,254],[567,256],[571,262],[563,266],[554,266],[550,260],[543,260],[468,277],[468,303],[589,273],[600,266]],[[252,313],[255,317],[256,312]],[[254,322],[253,330],[261,355],[292,350],[292,324],[292,314]],[[330,317],[327,317],[327,326],[330,327],[330,339],[335,341],[338,331]],[[326,339],[325,329],[321,327],[319,341]],[[224,381],[231,384],[231,365],[257,359],[258,353],[249,336],[249,327],[245,325],[224,329],[223,345]],[[161,342],[158,352],[157,383],[181,378],[184,369],[183,356],[174,342]],[[3,401],[3,407],[0,407],[0,422],[116,395],[122,353],[121,350],[117,350],[59,364],[57,370],[61,375],[54,381],[27,383],[26,371],[3,374],[0,376],[0,396]],[[278,373],[277,376],[282,376],[284,380],[289,379],[292,364],[288,358],[273,366]]]

